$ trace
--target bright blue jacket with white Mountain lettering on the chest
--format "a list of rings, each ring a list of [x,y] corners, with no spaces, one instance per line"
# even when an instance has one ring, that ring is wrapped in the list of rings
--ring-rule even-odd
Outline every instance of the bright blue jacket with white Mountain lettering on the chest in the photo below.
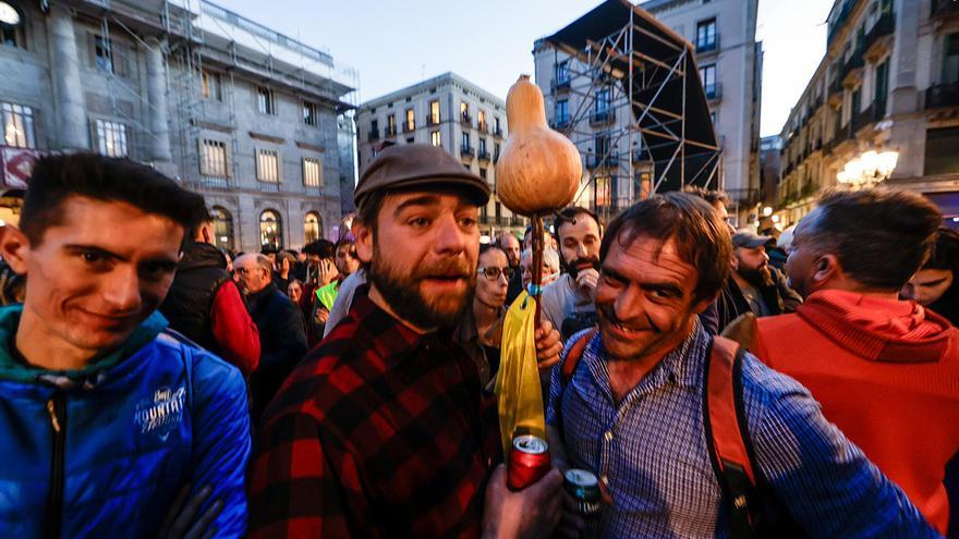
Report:
[[[38,369],[13,348],[22,309],[0,308],[0,537],[154,537],[187,483],[222,501],[216,537],[243,536],[240,371],[158,313],[83,370]]]

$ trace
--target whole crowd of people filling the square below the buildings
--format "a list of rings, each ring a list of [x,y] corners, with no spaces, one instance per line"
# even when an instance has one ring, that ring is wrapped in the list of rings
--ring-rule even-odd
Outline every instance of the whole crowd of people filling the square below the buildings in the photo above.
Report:
[[[489,196],[392,146],[336,241],[228,253],[159,172],[41,158],[0,229],[0,537],[959,537],[959,234],[927,199],[830,192],[778,238],[719,192],[570,207],[535,285],[530,230],[481,244]],[[513,490],[524,291],[551,465]]]

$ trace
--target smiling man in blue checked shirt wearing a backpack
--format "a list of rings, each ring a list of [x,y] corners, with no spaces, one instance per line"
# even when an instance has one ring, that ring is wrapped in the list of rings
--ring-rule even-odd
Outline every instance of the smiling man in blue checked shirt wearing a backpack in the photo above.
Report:
[[[703,420],[714,341],[696,317],[730,270],[725,229],[705,201],[670,192],[620,213],[603,241],[598,330],[573,338],[587,341],[571,371],[567,346],[546,413],[557,466],[592,470],[608,494],[590,529],[598,537],[737,537],[741,500],[717,476]],[[806,352],[802,340],[791,348]],[[735,365],[729,383],[741,391],[738,427],[770,510],[765,524],[789,528],[768,537],[936,537],[802,385],[748,352]]]

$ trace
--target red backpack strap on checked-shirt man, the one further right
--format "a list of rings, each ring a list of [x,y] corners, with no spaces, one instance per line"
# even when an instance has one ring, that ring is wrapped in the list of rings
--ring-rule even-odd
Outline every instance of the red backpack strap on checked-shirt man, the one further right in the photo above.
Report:
[[[756,537],[756,476],[742,404],[742,348],[735,341],[713,338],[704,389],[706,443],[716,477],[731,501],[730,537]]]

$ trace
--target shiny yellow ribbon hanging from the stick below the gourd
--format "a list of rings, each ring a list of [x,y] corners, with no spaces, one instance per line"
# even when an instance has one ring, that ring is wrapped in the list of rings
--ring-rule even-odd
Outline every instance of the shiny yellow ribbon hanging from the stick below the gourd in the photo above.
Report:
[[[499,433],[507,458],[518,434],[546,439],[543,390],[536,367],[536,301],[523,292],[506,313],[502,324],[496,397],[499,403]]]

